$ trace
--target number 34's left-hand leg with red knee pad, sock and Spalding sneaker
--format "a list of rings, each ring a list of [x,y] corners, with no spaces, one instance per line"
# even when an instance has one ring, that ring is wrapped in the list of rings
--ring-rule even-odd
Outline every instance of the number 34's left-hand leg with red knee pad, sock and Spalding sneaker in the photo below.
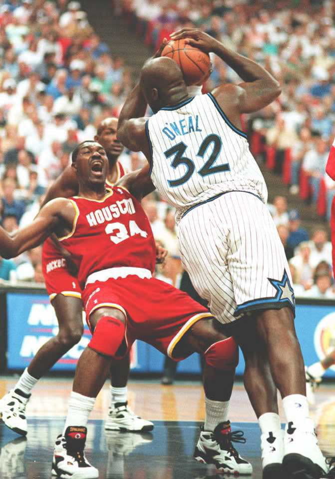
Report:
[[[98,470],[84,455],[86,426],[112,358],[126,353],[125,320],[122,311],[108,307],[89,315],[92,339],[77,363],[63,433],[55,443],[52,475],[80,479],[99,477]]]

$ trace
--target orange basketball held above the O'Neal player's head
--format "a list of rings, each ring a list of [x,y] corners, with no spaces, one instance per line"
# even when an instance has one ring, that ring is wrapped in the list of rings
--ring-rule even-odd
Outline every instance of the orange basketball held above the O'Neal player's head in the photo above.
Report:
[[[161,56],[172,58],[178,63],[187,85],[201,84],[202,80],[209,73],[211,60],[208,53],[185,43],[186,39],[169,41],[164,47]]]

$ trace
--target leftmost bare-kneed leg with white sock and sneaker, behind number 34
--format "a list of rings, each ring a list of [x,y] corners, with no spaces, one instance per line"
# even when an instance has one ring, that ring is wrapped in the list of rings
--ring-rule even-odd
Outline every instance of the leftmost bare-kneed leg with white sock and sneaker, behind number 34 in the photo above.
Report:
[[[59,326],[57,335],[40,347],[13,389],[0,401],[4,424],[21,435],[27,434],[25,408],[33,386],[80,341],[83,332],[80,298],[57,294],[51,303]]]

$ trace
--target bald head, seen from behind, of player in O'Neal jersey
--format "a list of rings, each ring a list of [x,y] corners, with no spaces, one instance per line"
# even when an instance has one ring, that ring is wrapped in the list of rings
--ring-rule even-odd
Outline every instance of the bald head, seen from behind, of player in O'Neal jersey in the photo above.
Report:
[[[175,61],[166,56],[153,58],[144,64],[140,85],[145,99],[154,112],[163,106],[173,104],[175,98],[177,103],[179,96],[187,95],[181,69]]]

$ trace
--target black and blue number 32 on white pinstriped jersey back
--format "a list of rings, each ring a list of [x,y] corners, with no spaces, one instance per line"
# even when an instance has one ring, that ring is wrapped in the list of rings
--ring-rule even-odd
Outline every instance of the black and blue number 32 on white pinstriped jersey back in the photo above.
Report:
[[[203,158],[207,152],[207,149],[210,147],[213,148],[212,153],[210,154],[210,157],[208,158],[206,163],[200,168],[199,171],[197,171],[197,174],[204,177],[208,175],[213,175],[215,173],[230,171],[229,163],[223,163],[221,165],[214,166],[214,163],[216,162],[222,148],[222,141],[220,136],[218,135],[212,133],[211,135],[206,136],[206,138],[203,140],[199,147],[197,156]],[[193,163],[191,158],[183,156],[186,149],[187,145],[185,145],[185,143],[181,141],[180,143],[164,151],[164,155],[166,158],[170,158],[171,156],[173,157],[173,160],[171,162],[172,168],[175,169],[180,165],[186,166],[186,172],[181,178],[175,180],[168,180],[169,186],[171,187],[180,186],[186,183],[186,181],[191,178],[195,171],[195,164]]]

